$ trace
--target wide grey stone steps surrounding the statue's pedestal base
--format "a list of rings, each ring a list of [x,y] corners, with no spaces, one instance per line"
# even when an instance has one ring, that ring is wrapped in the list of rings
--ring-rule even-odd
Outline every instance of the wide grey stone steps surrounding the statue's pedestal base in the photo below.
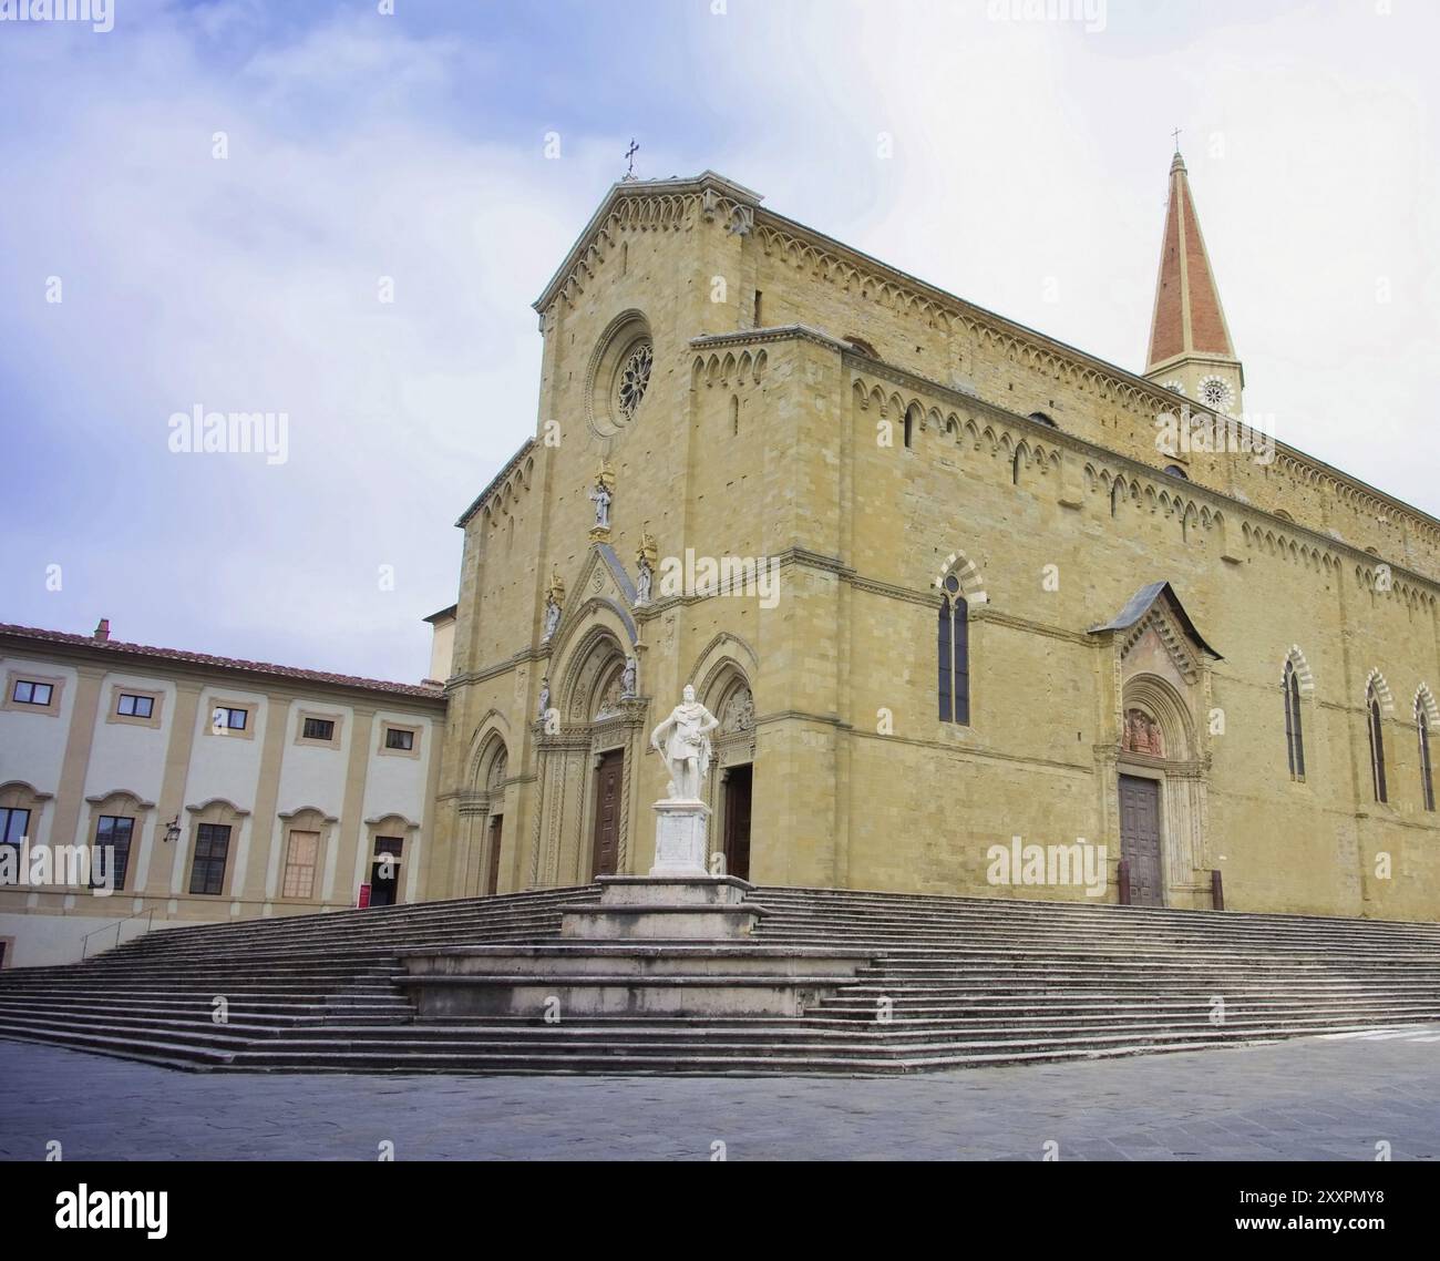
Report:
[[[752,895],[757,943],[873,957],[801,1019],[415,1022],[392,981],[402,947],[554,941],[595,896],[156,931],[0,973],[0,1038],[239,1071],[890,1074],[1440,1020],[1440,925],[828,889]]]

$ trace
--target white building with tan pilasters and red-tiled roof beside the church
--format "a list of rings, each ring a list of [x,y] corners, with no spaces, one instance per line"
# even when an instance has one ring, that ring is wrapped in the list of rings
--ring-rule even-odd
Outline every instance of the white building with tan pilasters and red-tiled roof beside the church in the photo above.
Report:
[[[4,964],[422,896],[438,686],[118,643],[108,623],[0,625],[0,659]]]

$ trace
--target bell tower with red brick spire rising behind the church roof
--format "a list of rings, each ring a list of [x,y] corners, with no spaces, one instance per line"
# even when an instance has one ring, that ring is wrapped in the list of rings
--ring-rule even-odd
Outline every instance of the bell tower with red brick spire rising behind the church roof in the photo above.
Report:
[[[1244,369],[1230,340],[1179,148],[1171,161],[1145,376],[1184,393],[1192,405],[1240,415]]]

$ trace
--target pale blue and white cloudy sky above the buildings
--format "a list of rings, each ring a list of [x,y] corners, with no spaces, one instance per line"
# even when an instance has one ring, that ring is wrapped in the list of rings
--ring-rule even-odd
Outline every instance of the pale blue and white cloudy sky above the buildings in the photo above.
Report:
[[[1246,411],[1440,514],[1433,0],[24,7],[0,623],[426,674],[455,520],[536,429],[530,304],[632,137],[1139,372],[1179,128]],[[196,408],[284,414],[284,460],[173,450]]]

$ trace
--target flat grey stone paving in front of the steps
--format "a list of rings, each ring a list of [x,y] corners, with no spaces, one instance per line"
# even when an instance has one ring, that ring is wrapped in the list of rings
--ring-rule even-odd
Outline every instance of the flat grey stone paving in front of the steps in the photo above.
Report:
[[[1440,1160],[1440,1029],[909,1078],[187,1074],[0,1041],[0,1159]]]

